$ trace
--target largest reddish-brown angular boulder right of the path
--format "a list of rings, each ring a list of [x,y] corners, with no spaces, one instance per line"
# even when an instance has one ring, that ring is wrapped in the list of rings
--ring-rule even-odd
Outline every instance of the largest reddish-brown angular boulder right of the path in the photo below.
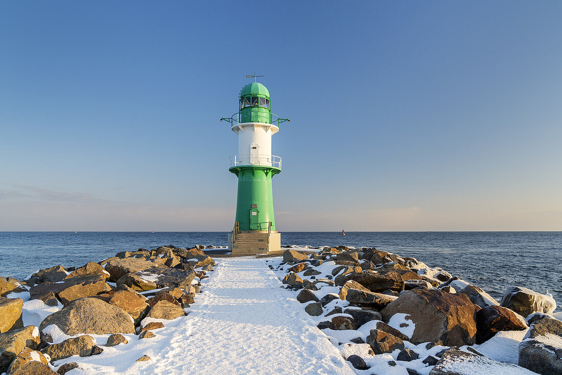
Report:
[[[415,324],[411,337],[415,344],[441,340],[447,346],[461,346],[475,343],[476,311],[466,295],[413,289],[403,292],[380,313],[386,322],[396,313],[409,314]]]

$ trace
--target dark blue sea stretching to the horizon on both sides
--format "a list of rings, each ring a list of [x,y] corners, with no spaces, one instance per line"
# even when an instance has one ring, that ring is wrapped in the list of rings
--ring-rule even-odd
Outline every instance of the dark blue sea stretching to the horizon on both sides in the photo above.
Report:
[[[226,246],[226,232],[0,232],[0,275],[23,279],[124,250]],[[549,291],[562,305],[562,232],[283,232],[282,245],[377,247],[441,267],[500,299],[508,285]],[[560,309],[558,309],[560,310]]]

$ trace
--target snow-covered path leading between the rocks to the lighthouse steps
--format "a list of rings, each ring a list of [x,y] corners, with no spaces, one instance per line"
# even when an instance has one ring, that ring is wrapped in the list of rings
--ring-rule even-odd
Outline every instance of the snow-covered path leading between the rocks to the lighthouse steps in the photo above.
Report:
[[[69,358],[91,366],[72,374],[355,374],[264,259],[218,259],[204,282],[187,317],[156,337]],[[143,354],[151,360],[135,363]]]

